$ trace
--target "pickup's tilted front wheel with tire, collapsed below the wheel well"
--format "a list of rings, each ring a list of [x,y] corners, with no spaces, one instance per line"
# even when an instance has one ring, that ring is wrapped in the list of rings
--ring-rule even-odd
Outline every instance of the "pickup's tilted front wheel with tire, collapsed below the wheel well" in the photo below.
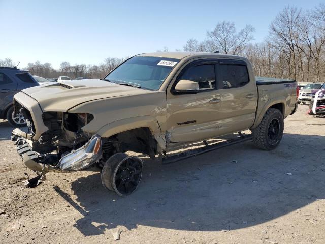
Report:
[[[142,168],[143,162],[139,157],[124,153],[114,154],[104,164],[102,184],[119,196],[126,197],[138,188]]]

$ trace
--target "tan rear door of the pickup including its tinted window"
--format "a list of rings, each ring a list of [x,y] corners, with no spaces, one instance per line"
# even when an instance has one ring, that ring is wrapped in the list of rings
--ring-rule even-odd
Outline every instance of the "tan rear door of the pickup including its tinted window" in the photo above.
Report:
[[[219,114],[223,125],[222,134],[250,128],[255,119],[258,95],[255,80],[250,78],[246,62],[219,60],[217,71],[222,89]]]

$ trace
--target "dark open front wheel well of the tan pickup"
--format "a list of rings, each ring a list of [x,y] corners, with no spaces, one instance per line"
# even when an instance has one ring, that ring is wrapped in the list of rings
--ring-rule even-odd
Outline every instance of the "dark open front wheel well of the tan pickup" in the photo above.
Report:
[[[117,151],[135,151],[148,154],[154,158],[157,154],[157,141],[154,139],[148,127],[140,127],[120,132],[109,138]]]

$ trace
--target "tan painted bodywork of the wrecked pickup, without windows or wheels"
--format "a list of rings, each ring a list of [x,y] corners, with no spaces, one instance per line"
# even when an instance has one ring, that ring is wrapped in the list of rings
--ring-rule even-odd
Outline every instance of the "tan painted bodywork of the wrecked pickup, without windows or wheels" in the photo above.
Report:
[[[94,119],[82,128],[86,134],[110,137],[119,132],[148,127],[158,142],[158,151],[162,152],[178,144],[170,142],[189,144],[254,128],[274,104],[283,105],[284,117],[295,108],[296,88],[283,84],[256,86],[254,72],[246,58],[199,52],[146,53],[141,56],[180,60],[157,91],[91,79],[64,82],[63,86],[29,88],[24,91],[29,96],[16,94],[15,99],[31,111],[37,128],[34,139],[48,130],[42,112],[90,113]],[[237,88],[172,94],[171,87],[182,69],[201,59],[242,60],[247,65],[250,82]],[[220,101],[211,103],[212,99]]]

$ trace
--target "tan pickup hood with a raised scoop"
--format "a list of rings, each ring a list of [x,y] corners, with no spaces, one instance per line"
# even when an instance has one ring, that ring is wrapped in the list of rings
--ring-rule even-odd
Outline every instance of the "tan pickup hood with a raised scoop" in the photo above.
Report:
[[[37,100],[44,112],[65,112],[91,100],[150,93],[149,90],[118,85],[100,79],[64,81],[31,87],[22,92]]]

